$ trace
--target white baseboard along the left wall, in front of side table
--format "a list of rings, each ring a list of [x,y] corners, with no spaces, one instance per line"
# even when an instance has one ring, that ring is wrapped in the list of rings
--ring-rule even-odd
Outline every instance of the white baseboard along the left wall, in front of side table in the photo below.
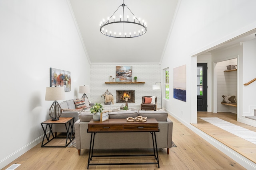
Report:
[[[33,147],[35,147],[36,145],[38,145],[38,143],[41,143],[43,137],[44,137],[44,135],[41,135],[40,137],[36,138],[34,141],[32,141],[32,142],[28,143],[27,145],[25,145],[24,147],[16,150],[16,152],[13,152],[6,158],[0,160],[0,169],[4,168],[6,165],[10,164],[10,162],[14,161],[19,156],[21,156],[22,154],[26,153],[28,150],[30,150]]]

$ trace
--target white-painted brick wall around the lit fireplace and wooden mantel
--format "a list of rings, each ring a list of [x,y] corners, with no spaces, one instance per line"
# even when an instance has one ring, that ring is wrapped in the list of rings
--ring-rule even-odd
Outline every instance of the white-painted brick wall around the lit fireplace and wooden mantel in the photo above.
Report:
[[[105,84],[110,81],[110,76],[116,80],[116,66],[132,66],[132,81],[134,81],[134,76],[137,76],[137,82],[145,82],[145,84]],[[122,105],[122,103],[116,103],[116,90],[135,90],[135,103],[128,103],[128,107],[140,109],[142,96],[157,96],[159,107],[161,106],[161,92],[152,90],[152,85],[160,82],[160,76],[159,64],[92,64],[90,66],[90,94],[87,96],[90,96],[89,100],[92,103],[101,103],[105,110],[112,110]],[[104,105],[102,94],[106,90],[113,94],[114,104]],[[125,102],[123,105],[125,106]]]

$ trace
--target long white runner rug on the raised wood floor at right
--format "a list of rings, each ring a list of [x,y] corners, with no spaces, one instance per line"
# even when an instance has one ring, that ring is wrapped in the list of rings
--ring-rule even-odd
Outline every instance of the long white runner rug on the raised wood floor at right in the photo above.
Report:
[[[250,131],[228,121],[224,121],[218,117],[200,117],[200,119],[256,145],[256,132],[254,131]]]

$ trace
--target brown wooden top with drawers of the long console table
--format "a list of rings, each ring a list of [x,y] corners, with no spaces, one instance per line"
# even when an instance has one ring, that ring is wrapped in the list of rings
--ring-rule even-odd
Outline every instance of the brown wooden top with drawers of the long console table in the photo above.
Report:
[[[158,122],[156,119],[147,119],[146,122],[126,119],[108,119],[106,121],[94,121],[88,123],[88,133],[92,132],[158,132]]]

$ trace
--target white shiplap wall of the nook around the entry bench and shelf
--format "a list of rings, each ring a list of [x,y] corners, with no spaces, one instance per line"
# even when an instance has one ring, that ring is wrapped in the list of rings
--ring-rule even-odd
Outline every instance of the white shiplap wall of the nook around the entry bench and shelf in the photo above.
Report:
[[[223,98],[222,95],[237,96],[237,72],[224,72],[227,70],[227,65],[237,65],[237,59],[231,59],[217,63],[218,69],[218,112],[232,112],[237,113],[236,107],[226,106],[220,104]]]

